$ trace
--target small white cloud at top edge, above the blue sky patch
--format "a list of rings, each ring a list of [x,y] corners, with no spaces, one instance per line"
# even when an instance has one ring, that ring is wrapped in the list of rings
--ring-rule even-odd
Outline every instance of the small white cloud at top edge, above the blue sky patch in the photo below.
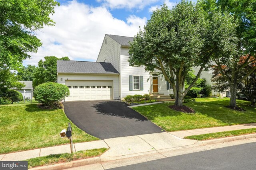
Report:
[[[143,9],[145,6],[158,2],[158,0],[97,0],[98,2],[103,2],[104,6],[114,8],[139,8]]]

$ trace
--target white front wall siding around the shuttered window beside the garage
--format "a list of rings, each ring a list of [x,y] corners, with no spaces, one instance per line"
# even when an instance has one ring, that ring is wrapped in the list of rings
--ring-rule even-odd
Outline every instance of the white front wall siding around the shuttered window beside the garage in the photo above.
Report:
[[[149,94],[150,93],[150,73],[146,72],[144,66],[133,67],[129,66],[129,48],[121,47],[121,72],[120,72],[120,84],[121,84],[121,98],[127,95],[134,94]],[[129,90],[129,76],[143,76],[143,90]]]

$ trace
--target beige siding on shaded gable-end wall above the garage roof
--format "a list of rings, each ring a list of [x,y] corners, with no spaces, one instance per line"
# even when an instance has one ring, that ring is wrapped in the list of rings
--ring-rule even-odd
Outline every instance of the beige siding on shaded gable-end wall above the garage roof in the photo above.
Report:
[[[106,39],[107,43],[105,43]],[[120,47],[119,43],[105,35],[97,62],[104,62],[106,60],[106,63],[111,63],[120,73]]]

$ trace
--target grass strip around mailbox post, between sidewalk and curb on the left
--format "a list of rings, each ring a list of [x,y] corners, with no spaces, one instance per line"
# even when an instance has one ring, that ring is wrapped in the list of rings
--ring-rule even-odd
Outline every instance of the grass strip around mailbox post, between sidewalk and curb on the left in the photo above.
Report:
[[[46,165],[63,163],[63,162],[70,162],[73,160],[96,157],[96,156],[100,156],[107,150],[108,150],[107,148],[80,150],[72,154],[71,153],[52,154],[48,156],[41,156],[37,158],[27,159],[26,161],[28,161],[28,168],[33,168],[37,166],[46,166]]]

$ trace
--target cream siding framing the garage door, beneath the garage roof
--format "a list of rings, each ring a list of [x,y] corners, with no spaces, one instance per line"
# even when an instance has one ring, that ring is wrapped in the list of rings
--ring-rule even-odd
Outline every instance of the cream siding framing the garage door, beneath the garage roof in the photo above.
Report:
[[[62,80],[61,80],[62,78]],[[110,74],[62,74],[58,73],[57,82],[60,84],[65,84],[66,80],[109,80],[113,81],[113,99],[119,98],[119,75]]]

